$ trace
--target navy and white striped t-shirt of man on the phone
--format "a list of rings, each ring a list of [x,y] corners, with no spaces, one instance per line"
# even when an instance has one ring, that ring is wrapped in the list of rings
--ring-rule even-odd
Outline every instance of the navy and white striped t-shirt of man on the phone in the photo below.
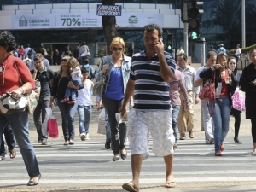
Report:
[[[175,61],[164,52],[166,62],[174,73]],[[143,111],[169,110],[169,84],[160,76],[159,55],[148,58],[146,50],[132,56],[130,79],[135,80],[134,109]]]

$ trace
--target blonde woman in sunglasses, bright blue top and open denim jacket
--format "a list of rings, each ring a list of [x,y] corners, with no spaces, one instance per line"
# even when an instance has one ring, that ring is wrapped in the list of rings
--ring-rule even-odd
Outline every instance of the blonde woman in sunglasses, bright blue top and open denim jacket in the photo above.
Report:
[[[119,160],[119,155],[123,160],[127,156],[125,150],[127,125],[125,123],[118,124],[115,113],[119,113],[119,108],[121,108],[125,97],[126,84],[130,76],[131,57],[124,55],[125,42],[123,38],[113,38],[110,50],[113,54],[102,58],[95,78],[97,81],[102,74],[107,73],[102,103],[108,113],[113,149],[112,160],[115,161]]]

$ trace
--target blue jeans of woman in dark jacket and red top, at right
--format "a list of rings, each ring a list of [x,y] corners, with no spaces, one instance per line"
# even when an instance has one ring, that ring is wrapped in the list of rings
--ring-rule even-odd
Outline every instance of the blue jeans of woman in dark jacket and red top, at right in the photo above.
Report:
[[[213,102],[210,102],[210,110],[213,110]],[[220,152],[220,143],[224,142],[230,126],[231,106],[228,97],[217,99],[212,119],[214,122],[215,153]]]

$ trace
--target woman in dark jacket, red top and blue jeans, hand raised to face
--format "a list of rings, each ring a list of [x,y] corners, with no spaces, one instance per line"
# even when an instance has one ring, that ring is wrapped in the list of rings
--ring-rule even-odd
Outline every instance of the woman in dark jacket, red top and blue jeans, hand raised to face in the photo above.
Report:
[[[224,139],[228,134],[230,126],[231,96],[236,90],[234,74],[226,67],[227,62],[228,55],[220,52],[217,55],[217,64],[208,67],[199,74],[201,79],[211,79],[212,73],[214,71],[216,72],[214,82],[216,103],[214,101],[210,101],[209,103],[210,111],[212,112],[214,110],[212,119],[214,122],[215,156],[222,156],[221,152],[224,151]]]

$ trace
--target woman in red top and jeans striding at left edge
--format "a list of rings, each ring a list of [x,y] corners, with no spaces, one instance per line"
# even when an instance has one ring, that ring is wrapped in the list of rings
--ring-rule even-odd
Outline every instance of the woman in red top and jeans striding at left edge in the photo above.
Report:
[[[35,83],[24,61],[11,55],[11,52],[15,50],[15,46],[15,37],[10,32],[0,32],[0,96],[9,92],[13,97],[20,98],[21,95],[31,92],[35,88]],[[20,73],[20,78],[17,70]],[[20,79],[23,82],[22,85],[20,84]],[[26,165],[26,171],[30,177],[27,185],[37,185],[41,174],[34,148],[29,139],[28,114],[26,110],[11,114],[0,112],[0,146],[2,144],[3,129],[7,125],[10,125],[14,131],[20,154],[22,154]],[[14,166],[9,165],[9,167]],[[13,171],[13,169],[9,170],[10,172]],[[14,172],[17,171],[15,170]],[[1,173],[4,174],[4,172]]]

